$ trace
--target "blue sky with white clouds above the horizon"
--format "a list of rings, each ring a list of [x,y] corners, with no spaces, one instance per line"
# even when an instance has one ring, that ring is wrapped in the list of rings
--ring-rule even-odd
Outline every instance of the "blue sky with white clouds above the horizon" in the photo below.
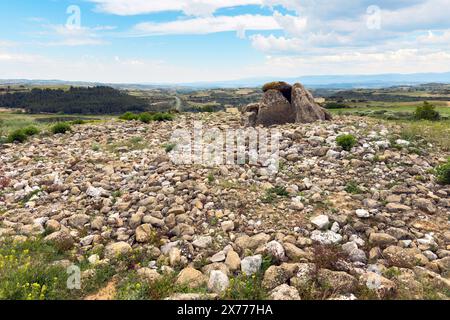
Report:
[[[450,71],[450,0],[0,0],[0,79]]]

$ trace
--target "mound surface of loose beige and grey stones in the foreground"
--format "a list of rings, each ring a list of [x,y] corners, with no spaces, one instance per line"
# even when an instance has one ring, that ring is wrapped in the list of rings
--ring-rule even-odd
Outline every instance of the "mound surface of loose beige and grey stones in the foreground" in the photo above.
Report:
[[[242,283],[269,299],[450,297],[450,187],[432,172],[447,154],[345,117],[278,126],[274,176],[172,164],[164,144],[194,119],[240,127],[236,114],[182,114],[0,146],[2,241],[44,238],[70,254],[63,262],[87,265],[84,277],[140,252],[129,272],[192,289],[169,299],[233,298]],[[342,133],[358,140],[350,152]]]

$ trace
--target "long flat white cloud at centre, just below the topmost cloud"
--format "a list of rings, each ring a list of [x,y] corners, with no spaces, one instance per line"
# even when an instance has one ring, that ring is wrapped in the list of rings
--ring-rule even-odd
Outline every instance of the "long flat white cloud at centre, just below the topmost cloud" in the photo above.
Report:
[[[236,31],[242,36],[243,30],[280,30],[281,27],[271,16],[240,15],[199,17],[163,23],[145,22],[133,28],[134,35],[168,34],[209,34]]]

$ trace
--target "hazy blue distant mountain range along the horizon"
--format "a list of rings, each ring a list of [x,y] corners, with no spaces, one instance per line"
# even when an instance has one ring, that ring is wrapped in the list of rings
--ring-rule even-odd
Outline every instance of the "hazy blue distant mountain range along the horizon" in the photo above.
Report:
[[[232,81],[192,82],[192,83],[97,83],[83,81],[62,80],[0,80],[0,85],[34,85],[34,86],[97,86],[107,85],[119,89],[213,89],[213,88],[254,88],[266,82],[283,80],[289,83],[300,82],[309,88],[383,88],[392,86],[414,86],[427,83],[450,83],[450,72],[446,73],[413,73],[413,74],[379,74],[379,75],[329,75],[329,76],[301,76],[296,78],[248,78]]]

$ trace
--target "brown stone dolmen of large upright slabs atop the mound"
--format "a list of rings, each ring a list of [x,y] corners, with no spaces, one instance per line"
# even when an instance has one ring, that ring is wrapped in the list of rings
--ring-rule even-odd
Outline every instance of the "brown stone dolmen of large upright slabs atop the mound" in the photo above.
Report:
[[[271,82],[263,87],[264,96],[259,103],[247,105],[243,110],[246,126],[264,127],[286,123],[310,123],[331,120],[331,114],[314,101],[312,94],[300,83]]]

